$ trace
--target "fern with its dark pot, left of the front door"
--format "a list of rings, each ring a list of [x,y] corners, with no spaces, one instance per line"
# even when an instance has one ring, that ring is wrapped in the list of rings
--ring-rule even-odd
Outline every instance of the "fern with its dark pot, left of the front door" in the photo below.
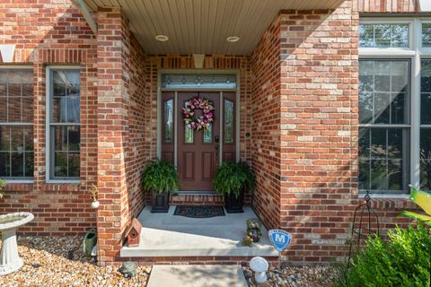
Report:
[[[151,161],[145,168],[142,179],[142,186],[147,192],[152,194],[152,213],[167,213],[169,210],[169,196],[175,194],[180,183],[178,173],[172,163],[158,160]]]

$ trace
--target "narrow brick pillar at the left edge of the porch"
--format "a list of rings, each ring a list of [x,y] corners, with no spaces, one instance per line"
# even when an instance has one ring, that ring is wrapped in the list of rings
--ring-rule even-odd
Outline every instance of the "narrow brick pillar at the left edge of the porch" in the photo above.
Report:
[[[128,150],[128,22],[120,8],[99,8],[97,34],[99,261],[119,257],[130,222],[125,154]]]

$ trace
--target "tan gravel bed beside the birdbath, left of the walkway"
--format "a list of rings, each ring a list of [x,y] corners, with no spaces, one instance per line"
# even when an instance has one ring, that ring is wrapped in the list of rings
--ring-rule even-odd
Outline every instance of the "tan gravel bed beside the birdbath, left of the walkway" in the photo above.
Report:
[[[0,277],[0,286],[145,286],[151,266],[127,279],[118,266],[101,267],[83,256],[83,237],[19,237],[20,271]],[[69,259],[71,258],[71,259]]]

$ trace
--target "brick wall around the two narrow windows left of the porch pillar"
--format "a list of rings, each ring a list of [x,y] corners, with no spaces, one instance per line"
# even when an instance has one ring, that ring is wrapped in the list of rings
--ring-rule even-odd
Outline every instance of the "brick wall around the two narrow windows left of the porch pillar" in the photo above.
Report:
[[[0,3],[0,44],[15,44],[14,65],[33,66],[34,182],[9,184],[0,213],[26,211],[22,232],[82,234],[96,224],[87,187],[96,182],[96,40],[68,0]],[[46,65],[81,66],[81,184],[47,184],[45,173]]]

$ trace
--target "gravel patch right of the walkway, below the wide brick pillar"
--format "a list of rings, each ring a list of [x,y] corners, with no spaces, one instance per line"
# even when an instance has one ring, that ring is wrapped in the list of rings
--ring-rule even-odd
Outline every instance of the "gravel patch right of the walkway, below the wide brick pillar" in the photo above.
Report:
[[[250,287],[257,287],[250,268],[244,269],[245,279]],[[301,266],[270,268],[268,281],[259,287],[330,287],[335,280],[335,270],[329,266]]]

